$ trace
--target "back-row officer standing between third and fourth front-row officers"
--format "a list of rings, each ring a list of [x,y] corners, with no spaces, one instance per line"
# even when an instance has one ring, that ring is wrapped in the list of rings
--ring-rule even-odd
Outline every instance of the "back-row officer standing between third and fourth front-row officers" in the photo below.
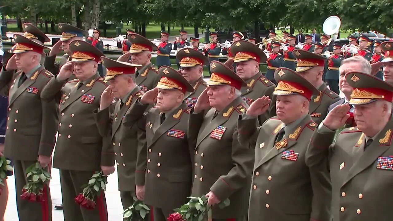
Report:
[[[157,46],[145,37],[136,33],[128,35],[128,40],[132,43],[130,48],[132,64],[141,64],[136,67],[136,84],[143,92],[147,92],[156,87],[160,80],[158,70],[151,63],[151,52],[157,50]]]

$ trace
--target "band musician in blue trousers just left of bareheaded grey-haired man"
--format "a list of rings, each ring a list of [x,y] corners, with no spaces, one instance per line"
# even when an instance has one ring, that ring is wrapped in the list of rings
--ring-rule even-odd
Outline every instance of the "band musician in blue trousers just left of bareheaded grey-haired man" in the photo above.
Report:
[[[340,72],[338,71],[338,68],[340,68],[341,61],[343,59],[344,56],[341,55],[341,44],[334,43],[333,55],[329,57],[329,61],[327,64],[326,82],[329,85],[330,90],[332,90],[336,94],[340,94],[340,90],[338,88],[338,79],[340,78]]]

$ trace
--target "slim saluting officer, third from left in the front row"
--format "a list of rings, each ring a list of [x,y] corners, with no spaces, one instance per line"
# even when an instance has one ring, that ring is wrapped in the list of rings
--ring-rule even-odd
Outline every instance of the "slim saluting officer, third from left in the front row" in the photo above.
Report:
[[[134,203],[133,197],[138,195],[143,199],[145,181],[145,172],[141,171],[145,169],[147,159],[145,155],[138,155],[147,151],[143,145],[138,146],[138,139],[143,134],[138,132],[137,125],[127,128],[122,124],[127,110],[143,94],[135,83],[135,67],[141,65],[114,61],[107,57],[101,57],[101,60],[107,68],[105,80],[110,85],[101,95],[100,107],[94,110],[94,118],[101,136],[109,134],[112,137],[112,149],[108,152],[112,152],[117,161],[120,199],[125,210]],[[119,101],[112,112],[109,107],[114,99]],[[141,177],[138,183],[137,176]]]

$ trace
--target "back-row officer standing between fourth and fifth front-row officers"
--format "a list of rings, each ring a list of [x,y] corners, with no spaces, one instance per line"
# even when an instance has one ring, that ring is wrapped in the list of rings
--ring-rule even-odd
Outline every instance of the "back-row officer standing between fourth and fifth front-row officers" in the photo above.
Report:
[[[203,66],[209,63],[208,58],[202,53],[184,48],[176,54],[182,67],[181,74],[194,88],[193,92],[185,92],[184,100],[187,107],[193,108],[196,100],[206,89],[206,81],[203,80]]]

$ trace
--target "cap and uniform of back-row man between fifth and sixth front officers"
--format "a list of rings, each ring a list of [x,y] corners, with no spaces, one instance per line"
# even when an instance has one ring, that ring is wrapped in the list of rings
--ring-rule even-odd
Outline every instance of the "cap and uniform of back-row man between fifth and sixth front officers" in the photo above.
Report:
[[[255,60],[258,64],[266,62],[265,53],[263,53],[258,46],[248,41],[239,40],[233,42],[231,52],[235,56],[233,59],[234,63],[249,60]],[[272,98],[275,85],[264,77],[261,72],[257,72],[253,77],[244,82],[246,82],[246,85],[242,86],[240,91],[242,92],[241,98],[247,105],[251,105],[253,101],[262,96],[269,96]],[[275,98],[272,98],[268,111],[259,116],[259,122],[262,124],[272,116],[275,116]]]

